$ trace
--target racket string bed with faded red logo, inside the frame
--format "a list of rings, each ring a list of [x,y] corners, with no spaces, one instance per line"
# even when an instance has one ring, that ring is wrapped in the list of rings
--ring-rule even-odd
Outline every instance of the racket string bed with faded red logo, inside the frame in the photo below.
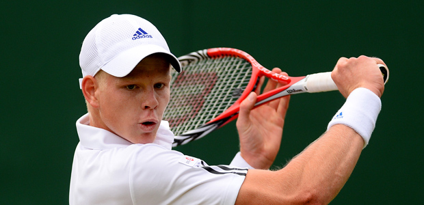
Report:
[[[205,58],[173,73],[163,120],[176,136],[206,124],[233,105],[250,81],[252,65],[239,57]]]

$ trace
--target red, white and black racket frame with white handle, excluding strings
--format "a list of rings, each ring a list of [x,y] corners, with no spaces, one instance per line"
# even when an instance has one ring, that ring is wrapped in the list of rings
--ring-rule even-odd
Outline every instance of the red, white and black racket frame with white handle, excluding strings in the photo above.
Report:
[[[194,130],[187,131],[181,135],[175,136],[174,143],[172,144],[173,147],[183,145],[185,143],[188,143],[189,141],[200,139],[201,137],[204,137],[215,129],[220,128],[228,124],[229,122],[235,120],[238,117],[241,102],[248,97],[250,92],[254,92],[254,90],[256,90],[259,84],[259,79],[263,76],[273,81],[277,81],[278,83],[286,85],[283,85],[274,90],[270,90],[269,92],[265,92],[257,96],[254,107],[258,107],[260,105],[263,105],[264,103],[270,102],[271,100],[275,100],[276,98],[291,94],[338,90],[336,84],[331,79],[331,72],[308,74],[303,77],[289,77],[287,75],[278,74],[276,72],[268,70],[267,68],[259,64],[259,62],[256,61],[254,57],[252,57],[245,51],[241,51],[239,49],[224,47],[204,49],[178,57],[178,60],[180,60],[182,66],[187,66],[201,59],[213,59],[222,56],[236,56],[241,59],[245,59],[252,65],[252,75],[246,88],[243,90],[241,96],[239,96],[239,98],[234,102],[234,104],[228,107],[228,109],[226,109],[220,115],[217,115],[216,118],[210,120],[209,122],[198,128],[195,128]],[[388,81],[388,68],[381,64],[379,64],[378,66],[382,71],[384,83],[386,83]]]

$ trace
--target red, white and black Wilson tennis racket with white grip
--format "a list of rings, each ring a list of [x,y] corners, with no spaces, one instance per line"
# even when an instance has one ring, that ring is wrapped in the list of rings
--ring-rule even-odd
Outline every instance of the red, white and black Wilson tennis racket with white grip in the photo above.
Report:
[[[170,102],[163,115],[176,136],[174,147],[200,139],[235,120],[241,101],[256,90],[262,76],[287,85],[259,95],[255,107],[291,94],[338,90],[331,72],[289,77],[267,70],[238,49],[205,49],[178,59],[183,71],[172,73]],[[379,66],[386,83],[388,69]]]

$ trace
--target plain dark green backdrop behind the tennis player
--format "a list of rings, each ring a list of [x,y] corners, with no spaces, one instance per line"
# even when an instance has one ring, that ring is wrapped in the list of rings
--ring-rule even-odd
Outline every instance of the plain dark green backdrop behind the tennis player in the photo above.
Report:
[[[171,51],[228,46],[292,76],[330,71],[339,57],[377,56],[390,69],[369,146],[331,204],[421,204],[423,1],[2,1],[0,204],[68,204],[85,113],[78,79],[85,35],[117,13],[155,24]],[[338,92],[291,98],[282,167],[326,131]],[[238,150],[235,123],[178,150],[210,165]]]

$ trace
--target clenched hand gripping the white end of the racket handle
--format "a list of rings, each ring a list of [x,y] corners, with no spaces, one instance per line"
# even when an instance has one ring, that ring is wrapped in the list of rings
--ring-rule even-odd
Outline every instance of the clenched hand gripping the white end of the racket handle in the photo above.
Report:
[[[382,59],[365,55],[349,59],[341,57],[331,77],[345,98],[358,87],[365,87],[381,97],[384,92],[384,80],[377,64],[384,62]]]

